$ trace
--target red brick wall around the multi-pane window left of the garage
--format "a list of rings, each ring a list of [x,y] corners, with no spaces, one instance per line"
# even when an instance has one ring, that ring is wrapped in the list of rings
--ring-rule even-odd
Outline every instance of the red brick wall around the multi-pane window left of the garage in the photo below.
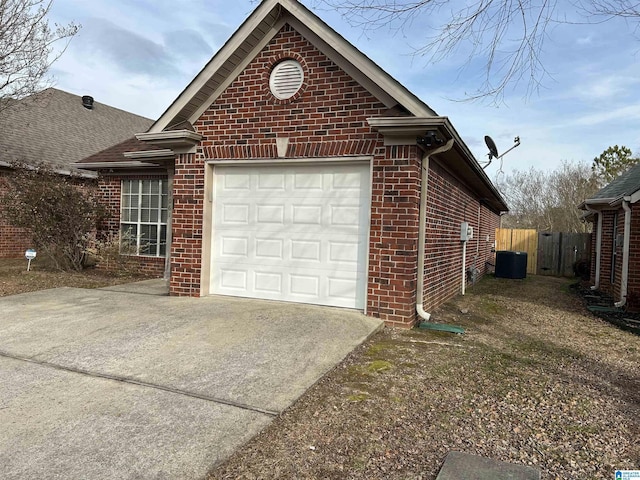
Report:
[[[103,175],[98,183],[98,191],[101,203],[107,209],[107,215],[100,225],[98,231],[98,239],[105,240],[109,235],[117,235],[120,232],[120,199],[122,196],[122,180],[155,180],[166,179],[166,175]],[[127,264],[135,264],[137,272],[151,276],[162,277],[165,270],[164,257],[135,256],[131,255],[127,259]],[[117,264],[110,264],[103,261],[96,265],[96,268],[105,271],[114,271],[118,268]]]

